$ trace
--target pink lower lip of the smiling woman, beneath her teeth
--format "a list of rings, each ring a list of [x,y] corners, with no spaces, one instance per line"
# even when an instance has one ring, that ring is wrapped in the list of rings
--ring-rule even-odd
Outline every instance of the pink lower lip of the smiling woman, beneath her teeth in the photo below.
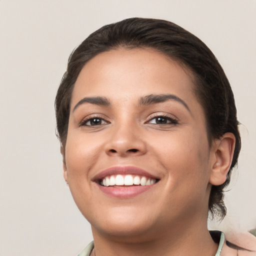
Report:
[[[148,189],[152,188],[155,184],[147,185],[147,186],[101,186],[97,184],[99,189],[111,197],[117,197],[117,198],[129,198],[134,197],[138,194],[141,194]]]

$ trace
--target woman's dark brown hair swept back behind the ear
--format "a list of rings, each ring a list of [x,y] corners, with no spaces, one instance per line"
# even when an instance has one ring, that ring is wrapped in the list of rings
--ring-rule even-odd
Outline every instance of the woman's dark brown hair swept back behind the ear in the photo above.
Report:
[[[78,74],[95,55],[119,47],[153,48],[188,67],[194,75],[195,93],[205,112],[209,141],[225,132],[234,134],[234,155],[226,181],[212,185],[208,203],[212,217],[223,218],[226,214],[223,189],[230,181],[241,146],[233,93],[210,49],[195,35],[172,22],[150,18],[124,19],[91,33],[71,53],[55,98],[57,132],[62,147],[65,146],[70,99]]]

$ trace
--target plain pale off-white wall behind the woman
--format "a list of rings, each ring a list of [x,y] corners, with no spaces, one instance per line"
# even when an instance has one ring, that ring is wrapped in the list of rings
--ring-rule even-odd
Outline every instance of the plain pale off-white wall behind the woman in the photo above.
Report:
[[[76,255],[92,239],[62,178],[54,97],[72,49],[132,16],[183,26],[223,66],[242,150],[228,214],[209,226],[256,227],[255,0],[0,0],[0,256]]]

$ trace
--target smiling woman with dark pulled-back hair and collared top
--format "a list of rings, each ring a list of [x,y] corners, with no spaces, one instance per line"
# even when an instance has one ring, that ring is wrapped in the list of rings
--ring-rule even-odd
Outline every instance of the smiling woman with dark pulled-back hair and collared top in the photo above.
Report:
[[[103,26],[69,57],[55,109],[94,239],[80,256],[254,253],[207,230],[208,212],[226,213],[240,136],[229,82],[197,37],[165,20]]]

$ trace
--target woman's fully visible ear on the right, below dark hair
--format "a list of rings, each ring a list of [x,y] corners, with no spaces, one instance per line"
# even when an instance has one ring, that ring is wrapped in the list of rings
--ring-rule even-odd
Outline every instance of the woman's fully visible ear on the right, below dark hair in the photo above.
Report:
[[[214,160],[211,166],[209,183],[221,185],[226,180],[229,171],[235,146],[235,136],[231,132],[226,132],[212,143]]]

